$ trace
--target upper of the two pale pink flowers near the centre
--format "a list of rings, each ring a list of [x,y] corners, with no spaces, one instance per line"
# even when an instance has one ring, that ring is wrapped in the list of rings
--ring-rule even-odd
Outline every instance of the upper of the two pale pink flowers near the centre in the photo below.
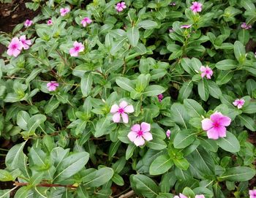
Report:
[[[113,121],[115,123],[119,123],[121,118],[124,123],[128,123],[128,115],[127,113],[133,113],[134,109],[132,105],[128,105],[127,102],[120,102],[119,106],[117,104],[113,104],[110,110],[110,113],[113,113]],[[120,117],[121,115],[121,117]]]

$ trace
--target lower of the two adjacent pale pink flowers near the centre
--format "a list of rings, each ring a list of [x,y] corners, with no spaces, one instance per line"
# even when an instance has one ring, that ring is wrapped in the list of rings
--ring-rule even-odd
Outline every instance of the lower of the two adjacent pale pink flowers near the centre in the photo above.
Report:
[[[135,124],[131,128],[131,132],[127,135],[131,142],[135,145],[140,146],[145,144],[145,140],[153,140],[152,134],[150,132],[150,124],[143,122],[141,124]]]

